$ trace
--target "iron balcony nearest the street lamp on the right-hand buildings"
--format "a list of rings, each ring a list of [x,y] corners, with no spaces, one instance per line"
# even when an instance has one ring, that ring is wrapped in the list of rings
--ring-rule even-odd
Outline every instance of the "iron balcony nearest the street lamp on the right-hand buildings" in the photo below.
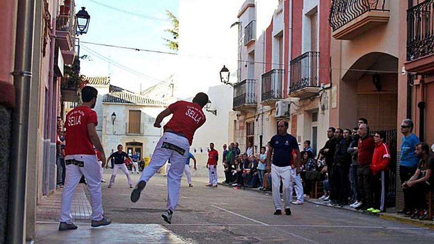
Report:
[[[232,109],[242,111],[256,108],[256,80],[245,79],[234,86]]]

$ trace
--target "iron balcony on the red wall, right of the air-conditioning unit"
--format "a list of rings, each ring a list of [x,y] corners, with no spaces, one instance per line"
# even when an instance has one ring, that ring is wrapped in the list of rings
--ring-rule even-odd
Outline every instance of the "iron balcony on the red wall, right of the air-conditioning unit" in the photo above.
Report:
[[[294,98],[315,96],[320,91],[318,79],[319,52],[306,52],[291,60],[289,95]]]

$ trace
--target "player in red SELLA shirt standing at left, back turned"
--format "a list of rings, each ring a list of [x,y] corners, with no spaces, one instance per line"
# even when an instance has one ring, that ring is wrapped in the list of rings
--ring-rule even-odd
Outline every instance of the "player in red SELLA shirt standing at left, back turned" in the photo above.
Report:
[[[83,103],[72,109],[66,116],[66,179],[62,193],[62,209],[59,230],[72,230],[78,227],[72,223],[71,204],[75,188],[82,175],[87,180],[92,206],[92,227],[109,225],[111,221],[104,217],[101,192],[101,164],[98,163],[95,148],[101,153],[103,166],[106,155],[98,137],[98,124],[95,107],[98,97],[97,89],[85,86],[81,89]]]

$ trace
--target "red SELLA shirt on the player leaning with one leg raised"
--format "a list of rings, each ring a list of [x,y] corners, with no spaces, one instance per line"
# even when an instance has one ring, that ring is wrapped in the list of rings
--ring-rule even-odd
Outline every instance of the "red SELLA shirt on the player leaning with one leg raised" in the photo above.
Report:
[[[196,132],[206,120],[202,107],[195,103],[178,101],[169,105],[169,110],[173,113],[173,116],[164,126],[164,131],[171,130],[181,133],[188,139],[191,145],[194,132]]]

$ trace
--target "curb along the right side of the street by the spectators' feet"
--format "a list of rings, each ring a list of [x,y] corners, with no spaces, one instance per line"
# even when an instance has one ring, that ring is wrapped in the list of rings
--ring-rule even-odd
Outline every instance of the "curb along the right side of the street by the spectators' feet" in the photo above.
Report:
[[[231,185],[228,185],[228,184],[223,184],[220,182],[218,182],[217,184],[233,188]],[[258,193],[264,193],[263,191],[255,190],[255,188],[242,187],[240,189],[249,190],[249,191],[258,192]],[[270,196],[272,195],[271,192],[268,192],[268,193],[269,194],[264,194],[264,195],[270,195]],[[311,204],[315,204],[315,205],[321,205],[321,206],[325,206],[325,207],[329,207],[329,208],[343,209],[343,210],[347,210],[347,211],[358,212],[358,213],[362,213],[362,214],[376,216],[376,217],[379,217],[379,218],[385,219],[385,220],[397,221],[397,222],[401,222],[401,223],[405,223],[405,224],[415,225],[418,227],[434,229],[434,221],[430,221],[430,220],[416,220],[416,219],[411,219],[409,217],[404,217],[404,216],[396,215],[393,213],[387,213],[387,212],[386,213],[373,213],[373,212],[369,212],[369,211],[365,211],[365,210],[353,209],[349,206],[345,206],[345,207],[334,206],[331,204],[323,203],[321,200],[318,200],[318,199],[315,199],[315,200],[314,199],[305,199],[304,201],[311,203]],[[319,202],[319,201],[321,201],[321,202]]]

